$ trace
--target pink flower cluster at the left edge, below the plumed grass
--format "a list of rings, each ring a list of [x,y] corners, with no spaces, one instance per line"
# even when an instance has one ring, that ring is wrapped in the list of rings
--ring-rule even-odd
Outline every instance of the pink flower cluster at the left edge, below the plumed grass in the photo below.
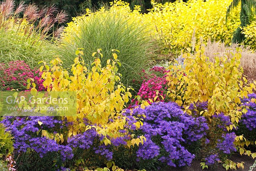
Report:
[[[11,61],[8,64],[0,63],[0,87],[3,90],[25,90],[28,78],[33,78],[38,91],[45,91],[44,80],[40,80],[42,73],[31,69],[24,61]]]

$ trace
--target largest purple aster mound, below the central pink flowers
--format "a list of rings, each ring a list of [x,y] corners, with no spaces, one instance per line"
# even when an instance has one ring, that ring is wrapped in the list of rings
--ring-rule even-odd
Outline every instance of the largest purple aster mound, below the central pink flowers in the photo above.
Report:
[[[195,155],[188,152],[183,145],[204,137],[208,130],[204,117],[194,118],[184,114],[174,102],[156,102],[145,109],[134,108],[132,112],[133,115],[146,115],[140,130],[147,141],[144,145],[139,145],[137,157],[143,160],[157,157],[173,167],[191,164]],[[160,143],[154,142],[156,137],[160,137]],[[165,155],[160,151],[165,151]]]

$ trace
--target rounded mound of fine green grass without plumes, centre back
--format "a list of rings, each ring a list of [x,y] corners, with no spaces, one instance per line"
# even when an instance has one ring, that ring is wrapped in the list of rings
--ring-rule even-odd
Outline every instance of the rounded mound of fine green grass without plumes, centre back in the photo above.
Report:
[[[56,50],[63,61],[63,67],[69,67],[73,63],[76,48],[84,48],[83,59],[89,65],[94,60],[91,55],[94,49],[102,49],[103,65],[112,56],[111,49],[118,49],[121,82],[131,85],[133,79],[138,80],[142,69],[152,66],[158,48],[148,33],[147,25],[127,18],[122,15],[126,11],[122,10],[124,9],[117,7],[109,10],[101,8],[96,13],[88,11],[84,16],[68,23],[62,36],[62,45]]]

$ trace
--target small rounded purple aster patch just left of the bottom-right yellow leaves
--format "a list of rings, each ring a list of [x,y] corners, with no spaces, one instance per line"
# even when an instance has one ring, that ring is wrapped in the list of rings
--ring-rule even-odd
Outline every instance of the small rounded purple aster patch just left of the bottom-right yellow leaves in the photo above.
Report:
[[[218,139],[217,148],[220,149],[225,154],[230,154],[231,152],[236,151],[235,147],[235,138],[236,134],[235,132],[226,133],[221,136],[223,139]]]

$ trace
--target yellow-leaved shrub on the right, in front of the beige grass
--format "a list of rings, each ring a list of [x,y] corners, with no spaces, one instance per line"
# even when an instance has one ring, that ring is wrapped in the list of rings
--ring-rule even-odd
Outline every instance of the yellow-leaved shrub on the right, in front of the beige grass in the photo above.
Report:
[[[242,114],[247,112],[240,99],[248,97],[247,94],[255,89],[255,83],[246,84],[243,68],[239,66],[239,48],[237,53],[216,56],[214,60],[204,55],[204,48],[204,45],[198,44],[194,55],[184,54],[184,67],[170,65],[172,72],[168,72],[166,77],[168,97],[183,106],[188,113],[191,113],[191,103],[207,102],[207,110],[201,111],[200,115],[205,116],[209,123],[214,114],[228,115],[232,124],[227,126],[227,130],[234,130]],[[245,150],[246,139],[243,135],[236,137],[235,145],[240,154],[247,152],[253,158],[256,157],[256,153]]]

